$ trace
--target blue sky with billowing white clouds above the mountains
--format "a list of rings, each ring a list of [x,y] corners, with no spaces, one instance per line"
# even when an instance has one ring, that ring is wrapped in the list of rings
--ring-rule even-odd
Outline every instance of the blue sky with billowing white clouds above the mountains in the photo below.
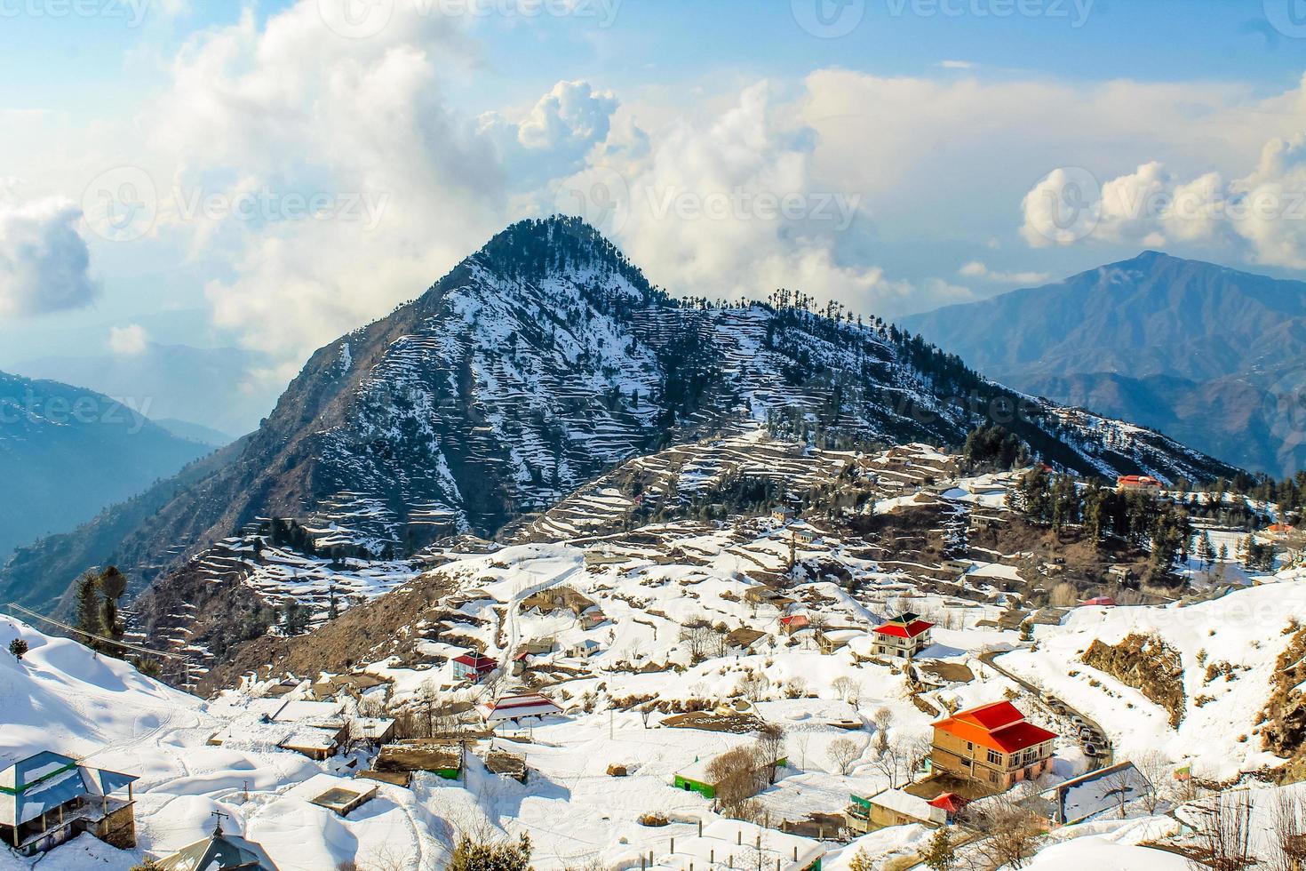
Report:
[[[1306,277],[1306,0],[0,0],[0,368],[316,347],[507,223],[901,317]]]

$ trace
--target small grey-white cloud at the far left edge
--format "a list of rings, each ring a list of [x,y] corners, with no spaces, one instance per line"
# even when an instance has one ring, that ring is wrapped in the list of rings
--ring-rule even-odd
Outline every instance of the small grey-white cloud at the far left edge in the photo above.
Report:
[[[81,209],[50,197],[20,202],[0,191],[0,316],[81,308],[99,294],[77,222]]]

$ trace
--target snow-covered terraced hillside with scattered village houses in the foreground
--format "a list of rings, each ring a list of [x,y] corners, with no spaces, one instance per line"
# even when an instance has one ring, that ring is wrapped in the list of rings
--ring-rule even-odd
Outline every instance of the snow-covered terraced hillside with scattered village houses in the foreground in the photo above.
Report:
[[[434,868],[466,833],[526,836],[537,868],[1059,868],[1072,840],[1286,867],[1297,518],[1195,528],[1225,559],[1185,547],[1162,582],[1147,547],[1037,522],[1037,466],[976,465],[759,430],[409,560],[249,530],[120,642],[158,657],[3,618],[0,692],[30,704],[0,735],[0,868]],[[249,602],[274,622],[214,656]],[[184,661],[196,695],[112,653]]]

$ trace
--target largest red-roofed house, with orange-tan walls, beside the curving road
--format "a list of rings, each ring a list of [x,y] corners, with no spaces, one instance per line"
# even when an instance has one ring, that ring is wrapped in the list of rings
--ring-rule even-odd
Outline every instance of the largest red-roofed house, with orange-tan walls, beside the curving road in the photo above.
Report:
[[[930,763],[1000,793],[1050,770],[1054,740],[1010,701],[994,701],[934,723]]]

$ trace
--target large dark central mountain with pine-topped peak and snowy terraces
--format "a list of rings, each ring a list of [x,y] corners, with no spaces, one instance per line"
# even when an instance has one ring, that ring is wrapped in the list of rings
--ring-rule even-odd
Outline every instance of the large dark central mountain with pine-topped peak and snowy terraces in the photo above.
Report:
[[[1002,418],[1067,469],[1233,471],[1049,404],[1010,418],[1021,397],[956,356],[791,300],[679,303],[579,219],[513,225],[414,302],[316,351],[257,432],[175,495],[151,494],[148,521],[51,542],[54,564],[30,548],[26,568],[0,572],[0,594],[48,606],[108,554],[138,590],[269,518],[293,518],[323,552],[402,555],[492,534],[631,456],[768,420],[808,437],[960,444]]]

